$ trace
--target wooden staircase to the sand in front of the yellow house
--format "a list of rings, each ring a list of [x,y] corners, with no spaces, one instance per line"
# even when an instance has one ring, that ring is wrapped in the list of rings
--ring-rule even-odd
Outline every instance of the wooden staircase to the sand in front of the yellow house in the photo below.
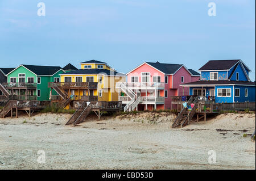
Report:
[[[86,117],[89,115],[90,111],[91,111],[90,103],[89,105],[87,105],[86,102],[83,102],[81,106],[76,110],[76,112],[73,113],[71,119],[68,120],[66,125],[69,125],[69,124],[76,125],[76,124],[82,123],[86,119]]]

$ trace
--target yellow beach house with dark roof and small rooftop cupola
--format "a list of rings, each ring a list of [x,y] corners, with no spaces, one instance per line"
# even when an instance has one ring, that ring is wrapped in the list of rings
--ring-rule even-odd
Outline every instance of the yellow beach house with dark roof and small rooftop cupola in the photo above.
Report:
[[[76,100],[118,101],[115,83],[125,82],[125,74],[97,60],[81,62],[80,65],[79,70],[60,74],[60,82],[56,83],[58,87]]]

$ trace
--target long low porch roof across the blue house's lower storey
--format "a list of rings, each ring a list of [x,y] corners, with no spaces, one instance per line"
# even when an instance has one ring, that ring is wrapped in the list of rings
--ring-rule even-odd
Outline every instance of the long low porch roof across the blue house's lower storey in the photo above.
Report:
[[[255,86],[255,82],[251,81],[196,81],[196,82],[188,82],[188,83],[183,83],[181,85],[251,85]]]

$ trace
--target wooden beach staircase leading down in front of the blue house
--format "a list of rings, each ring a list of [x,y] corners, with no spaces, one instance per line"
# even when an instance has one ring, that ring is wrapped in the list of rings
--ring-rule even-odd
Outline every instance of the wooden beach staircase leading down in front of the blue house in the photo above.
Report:
[[[183,108],[180,111],[180,113],[178,114],[178,116],[176,117],[174,123],[172,124],[172,128],[176,128],[176,127],[182,128],[182,127],[185,127],[185,125],[189,124],[189,121],[192,120],[192,117],[196,113],[197,102],[198,102],[197,97],[195,98],[195,100],[193,100],[192,96],[191,96],[191,98],[189,98],[187,103],[189,103],[189,104],[193,103],[193,104],[195,104],[195,106],[192,108],[191,111],[187,111],[186,108]]]

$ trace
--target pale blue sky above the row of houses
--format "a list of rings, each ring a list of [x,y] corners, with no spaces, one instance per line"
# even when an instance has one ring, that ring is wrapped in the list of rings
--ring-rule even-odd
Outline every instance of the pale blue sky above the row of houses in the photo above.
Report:
[[[0,0],[2,68],[98,60],[127,73],[144,61],[198,70],[228,59],[255,81],[255,0]]]

